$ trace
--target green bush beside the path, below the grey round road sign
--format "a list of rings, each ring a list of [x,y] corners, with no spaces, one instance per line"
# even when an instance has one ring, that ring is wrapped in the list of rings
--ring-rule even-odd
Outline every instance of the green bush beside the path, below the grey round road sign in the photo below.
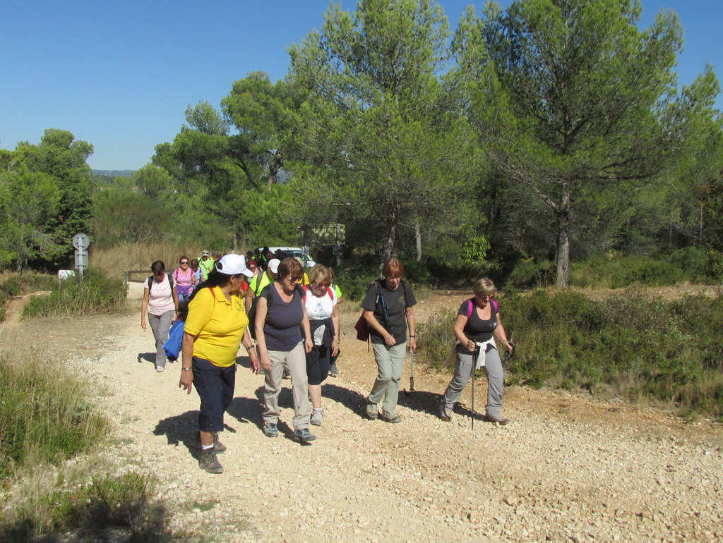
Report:
[[[82,281],[68,279],[54,284],[47,296],[34,297],[22,310],[23,317],[83,316],[111,313],[125,307],[126,287],[100,269],[89,269]]]

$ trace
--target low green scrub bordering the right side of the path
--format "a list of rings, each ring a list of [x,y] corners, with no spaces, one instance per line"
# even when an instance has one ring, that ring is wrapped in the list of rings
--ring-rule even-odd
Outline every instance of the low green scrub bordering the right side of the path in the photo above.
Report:
[[[723,300],[666,301],[628,290],[595,302],[573,293],[501,297],[517,351],[508,381],[662,401],[723,417]],[[440,365],[453,345],[452,312],[420,327],[420,360]]]

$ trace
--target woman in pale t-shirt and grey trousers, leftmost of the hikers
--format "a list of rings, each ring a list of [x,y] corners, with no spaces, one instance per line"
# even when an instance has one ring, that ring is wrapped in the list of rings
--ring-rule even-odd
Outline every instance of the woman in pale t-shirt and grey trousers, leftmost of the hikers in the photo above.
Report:
[[[188,260],[188,259],[187,259]],[[163,344],[168,339],[168,330],[179,310],[179,297],[173,285],[173,278],[166,274],[166,264],[157,260],[150,265],[153,275],[148,277],[140,304],[140,327],[146,329],[148,315],[150,329],[155,338],[155,370],[166,369],[166,351]]]

